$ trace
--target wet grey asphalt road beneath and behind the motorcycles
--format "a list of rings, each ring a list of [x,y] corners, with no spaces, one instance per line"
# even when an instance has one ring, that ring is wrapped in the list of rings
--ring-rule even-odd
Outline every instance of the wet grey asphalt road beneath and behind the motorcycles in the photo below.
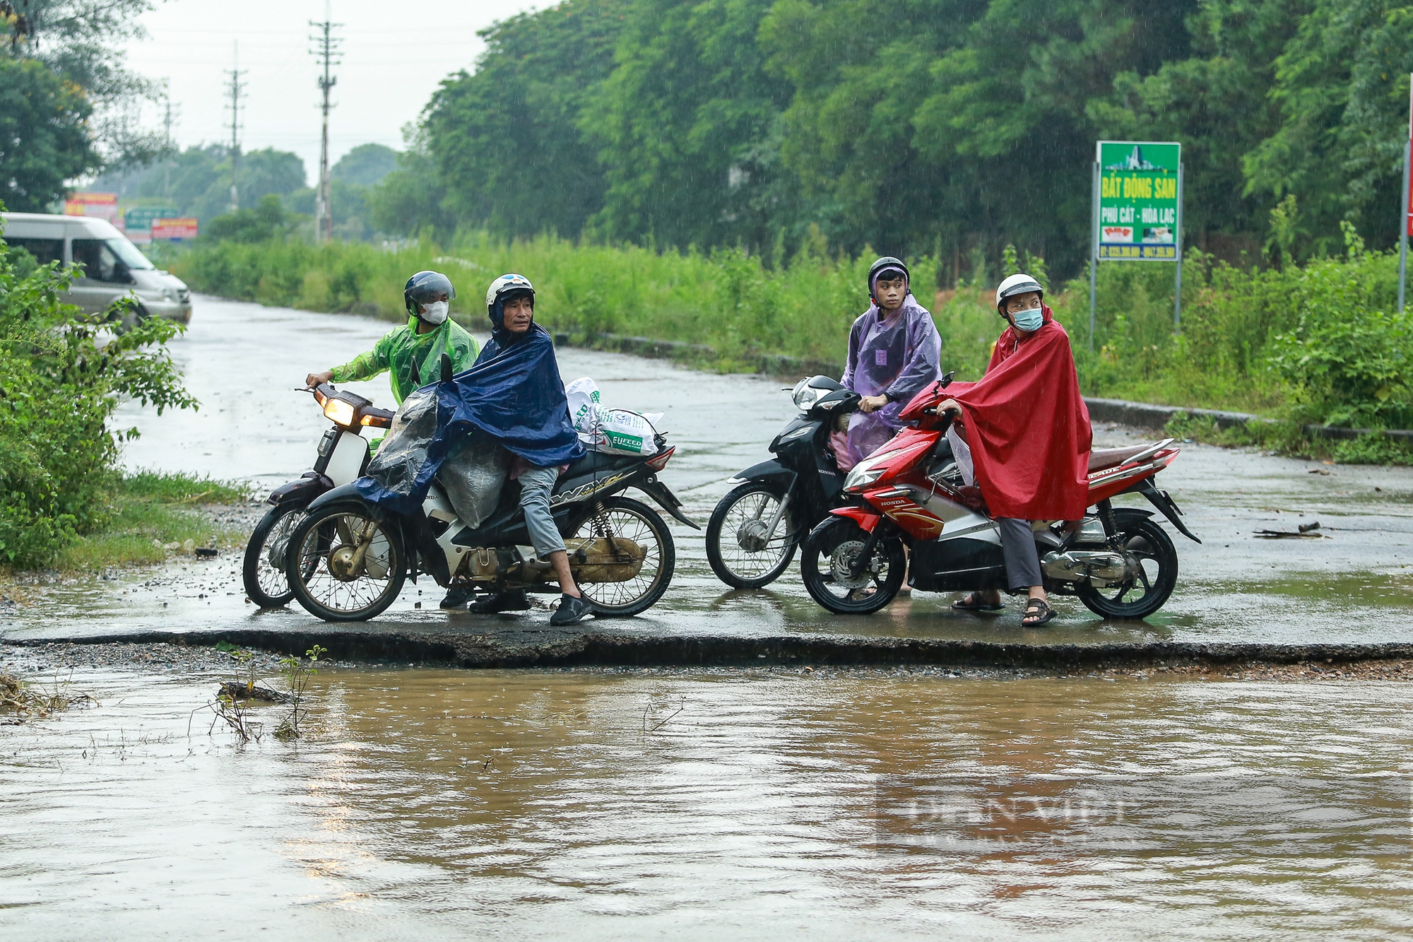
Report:
[[[141,437],[126,447],[129,468],[246,478],[268,489],[309,467],[326,420],[304,375],[372,347],[390,324],[201,297],[189,332],[174,344],[196,413],[124,406],[117,421]],[[726,479],[769,457],[766,444],[794,407],[780,380],[716,376],[663,361],[581,349],[560,352],[561,373],[592,376],[610,406],[664,412],[677,455],[661,475],[705,525]],[[391,406],[384,379],[349,388]],[[1095,426],[1095,446],[1149,440]],[[1163,472],[1201,546],[1173,533],[1181,557],[1177,590],[1146,622],[1106,622],[1077,600],[1057,598],[1060,618],[1020,627],[1020,605],[1000,617],[948,611],[952,595],[901,597],[870,617],[834,617],[817,607],[793,567],[769,590],[729,591],[706,566],[702,535],[673,522],[677,574],[647,614],[593,629],[625,634],[832,634],[986,639],[1029,644],[1095,642],[1383,642],[1413,641],[1413,470],[1320,463],[1188,444]],[[1146,506],[1142,499],[1136,505]],[[1253,530],[1293,530],[1320,521],[1325,539],[1262,540]],[[0,636],[44,638],[319,625],[297,605],[256,612],[240,587],[239,554],[175,559],[158,571],[49,586],[30,603],[0,611]],[[370,631],[427,628],[548,639],[548,615],[479,618],[435,608],[427,580]],[[418,603],[424,607],[418,608]]]

